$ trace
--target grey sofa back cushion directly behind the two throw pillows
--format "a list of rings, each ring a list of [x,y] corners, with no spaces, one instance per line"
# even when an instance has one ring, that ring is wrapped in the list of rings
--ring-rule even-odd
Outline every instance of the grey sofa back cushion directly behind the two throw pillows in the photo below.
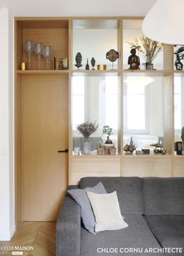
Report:
[[[94,187],[102,182],[108,193],[117,191],[122,215],[143,214],[143,194],[137,177],[86,177],[80,180],[80,188]]]

